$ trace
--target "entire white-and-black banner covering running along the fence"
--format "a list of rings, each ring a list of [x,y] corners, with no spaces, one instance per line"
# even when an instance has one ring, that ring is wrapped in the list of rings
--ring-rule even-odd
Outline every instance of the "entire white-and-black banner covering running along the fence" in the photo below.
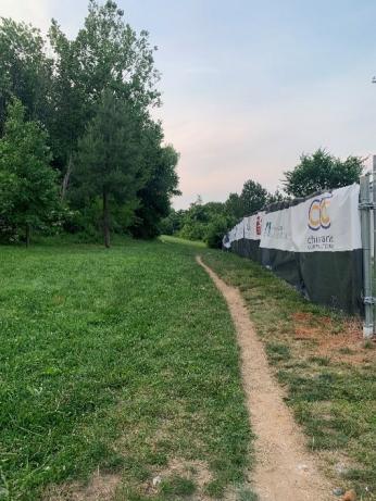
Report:
[[[280,202],[245,217],[224,247],[258,261],[308,299],[361,313],[359,185]]]

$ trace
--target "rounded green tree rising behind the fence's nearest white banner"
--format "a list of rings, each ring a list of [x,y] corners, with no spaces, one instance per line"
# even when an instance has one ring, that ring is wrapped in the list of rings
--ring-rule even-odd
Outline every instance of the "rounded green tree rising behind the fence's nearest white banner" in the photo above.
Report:
[[[318,149],[311,155],[302,154],[300,163],[292,171],[285,172],[284,187],[288,195],[306,197],[359,183],[363,170],[363,160],[358,156],[348,156],[341,161]]]

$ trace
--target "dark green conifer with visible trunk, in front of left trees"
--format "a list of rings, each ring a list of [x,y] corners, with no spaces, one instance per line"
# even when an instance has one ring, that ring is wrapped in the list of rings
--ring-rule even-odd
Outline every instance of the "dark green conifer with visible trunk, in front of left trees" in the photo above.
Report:
[[[102,198],[103,236],[110,247],[111,202],[137,205],[137,192],[147,180],[142,168],[140,137],[142,120],[128,102],[110,89],[103,91],[97,114],[78,141],[77,165],[73,173],[78,198]],[[77,196],[77,195],[76,195]]]

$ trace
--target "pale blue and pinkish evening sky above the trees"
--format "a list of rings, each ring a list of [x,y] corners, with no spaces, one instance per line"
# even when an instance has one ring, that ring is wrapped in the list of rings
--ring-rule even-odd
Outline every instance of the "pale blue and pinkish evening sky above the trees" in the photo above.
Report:
[[[118,0],[159,47],[165,141],[185,209],[268,190],[301,153],[376,154],[375,0]],[[74,37],[87,0],[0,0],[0,16]]]

